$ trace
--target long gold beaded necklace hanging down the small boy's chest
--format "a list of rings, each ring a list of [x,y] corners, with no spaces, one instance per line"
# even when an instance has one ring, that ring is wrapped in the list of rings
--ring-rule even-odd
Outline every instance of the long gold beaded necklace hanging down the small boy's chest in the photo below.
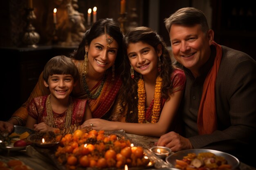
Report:
[[[52,104],[50,102],[51,95],[49,95],[46,99],[46,113],[47,113],[47,124],[53,128],[56,128],[54,119],[53,119],[53,111],[52,111]],[[65,128],[69,128],[71,125],[71,119],[72,119],[72,112],[73,112],[73,101],[70,97],[67,110],[65,111],[66,114],[66,120],[65,120]]]

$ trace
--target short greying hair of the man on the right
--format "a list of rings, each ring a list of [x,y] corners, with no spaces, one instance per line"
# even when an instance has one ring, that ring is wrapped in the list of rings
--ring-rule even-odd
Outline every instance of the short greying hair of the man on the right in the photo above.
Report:
[[[169,18],[164,19],[164,24],[168,33],[170,33],[172,24],[180,24],[185,26],[194,26],[195,24],[200,24],[204,33],[209,31],[206,16],[202,11],[194,7],[185,7],[175,11],[175,13],[171,14]]]

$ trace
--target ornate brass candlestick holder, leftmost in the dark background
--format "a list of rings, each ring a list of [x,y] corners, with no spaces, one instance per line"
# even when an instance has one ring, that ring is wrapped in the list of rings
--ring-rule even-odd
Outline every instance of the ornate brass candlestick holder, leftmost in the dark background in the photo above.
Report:
[[[34,8],[27,8],[27,27],[25,34],[23,35],[23,42],[29,47],[37,47],[37,43],[40,40],[40,35],[35,31],[35,27],[31,24],[32,20],[36,19]]]

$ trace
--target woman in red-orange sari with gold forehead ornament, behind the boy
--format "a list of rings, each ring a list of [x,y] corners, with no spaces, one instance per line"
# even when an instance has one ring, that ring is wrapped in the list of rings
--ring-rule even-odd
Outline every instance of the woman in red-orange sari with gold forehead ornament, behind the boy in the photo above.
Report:
[[[121,86],[119,73],[124,57],[121,48],[123,37],[117,22],[110,18],[101,19],[85,32],[78,49],[71,54],[80,74],[80,83],[73,88],[71,95],[88,99],[93,118],[110,117],[116,108],[114,103]],[[27,105],[32,98],[43,95],[49,95],[49,89],[44,86],[41,74],[27,102],[7,122],[0,121],[0,130],[11,132],[13,125],[24,126]]]

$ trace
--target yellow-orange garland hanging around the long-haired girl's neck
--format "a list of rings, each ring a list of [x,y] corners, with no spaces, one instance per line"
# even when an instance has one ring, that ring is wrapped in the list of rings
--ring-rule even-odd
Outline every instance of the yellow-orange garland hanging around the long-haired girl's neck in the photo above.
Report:
[[[156,85],[155,85],[155,93],[154,93],[154,105],[152,109],[151,115],[151,123],[156,123],[160,117],[161,111],[161,88],[162,88],[162,81],[163,79],[160,76],[157,76]],[[146,90],[144,86],[143,79],[139,79],[138,81],[138,122],[139,123],[146,123],[145,118],[145,102],[146,102]]]

